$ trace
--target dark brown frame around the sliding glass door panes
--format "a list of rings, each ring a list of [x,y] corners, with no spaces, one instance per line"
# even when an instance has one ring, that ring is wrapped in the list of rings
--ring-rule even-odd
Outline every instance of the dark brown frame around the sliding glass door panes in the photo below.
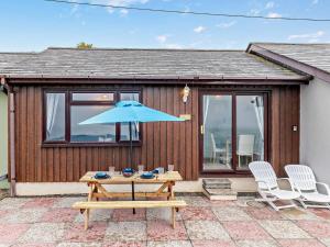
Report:
[[[262,94],[264,99],[264,160],[270,160],[271,158],[271,133],[272,133],[272,120],[271,120],[271,96],[272,91],[266,89],[199,89],[198,93],[198,137],[199,137],[199,175],[204,177],[250,177],[250,170],[238,170],[238,157],[237,153],[237,96],[255,96]],[[204,170],[204,134],[201,133],[201,126],[204,122],[204,105],[202,98],[204,96],[232,96],[232,169],[227,170]]]

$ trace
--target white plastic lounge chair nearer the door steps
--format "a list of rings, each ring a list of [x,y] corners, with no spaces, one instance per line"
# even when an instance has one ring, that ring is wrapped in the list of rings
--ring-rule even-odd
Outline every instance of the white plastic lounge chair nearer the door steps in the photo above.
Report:
[[[283,190],[278,187],[278,180],[288,179],[278,179],[270,162],[253,161],[249,164],[249,168],[257,183],[257,192],[262,197],[262,199],[256,199],[256,201],[267,202],[276,211],[288,207],[297,207],[293,200],[298,199],[300,194],[295,192],[293,188],[292,190]],[[274,203],[275,201],[289,201],[290,204],[278,206]]]

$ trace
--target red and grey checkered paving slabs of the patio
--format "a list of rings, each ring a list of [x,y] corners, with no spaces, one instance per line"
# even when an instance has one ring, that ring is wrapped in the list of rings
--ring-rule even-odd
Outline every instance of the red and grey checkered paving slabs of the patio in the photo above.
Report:
[[[330,246],[330,211],[275,212],[253,199],[188,203],[169,224],[168,209],[91,211],[90,228],[70,209],[86,198],[6,198],[0,201],[0,247],[319,247]]]

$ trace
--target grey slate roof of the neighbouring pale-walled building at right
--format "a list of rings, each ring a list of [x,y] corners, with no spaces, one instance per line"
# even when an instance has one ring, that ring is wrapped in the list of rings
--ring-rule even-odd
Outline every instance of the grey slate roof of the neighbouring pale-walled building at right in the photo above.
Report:
[[[254,49],[262,48],[330,72],[329,44],[280,44],[253,43]]]

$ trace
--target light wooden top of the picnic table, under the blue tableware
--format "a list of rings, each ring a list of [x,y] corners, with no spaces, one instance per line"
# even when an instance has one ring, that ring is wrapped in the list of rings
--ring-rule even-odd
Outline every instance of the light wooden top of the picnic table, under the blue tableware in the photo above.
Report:
[[[97,171],[88,171],[80,178],[80,182],[98,182],[102,184],[125,184],[125,183],[164,183],[164,182],[175,182],[182,181],[183,177],[178,171],[167,171],[163,175],[155,175],[153,179],[142,179],[139,173],[133,175],[132,177],[123,177],[122,175],[113,175],[108,179],[96,179],[95,175]]]

